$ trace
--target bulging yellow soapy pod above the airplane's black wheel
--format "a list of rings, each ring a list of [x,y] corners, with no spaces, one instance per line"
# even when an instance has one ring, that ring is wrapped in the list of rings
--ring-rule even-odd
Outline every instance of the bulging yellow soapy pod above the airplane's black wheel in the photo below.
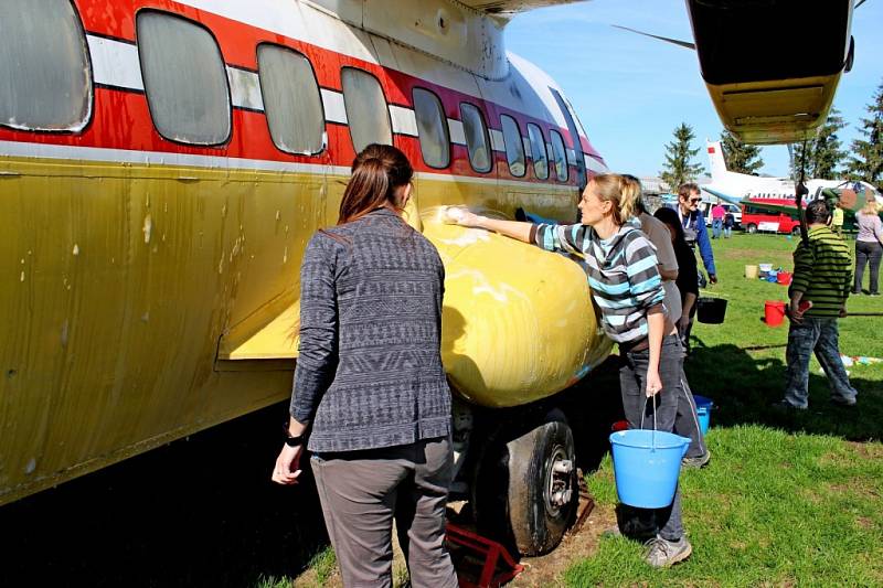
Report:
[[[442,359],[456,393],[511,407],[572,385],[609,353],[574,260],[423,211],[445,264]]]

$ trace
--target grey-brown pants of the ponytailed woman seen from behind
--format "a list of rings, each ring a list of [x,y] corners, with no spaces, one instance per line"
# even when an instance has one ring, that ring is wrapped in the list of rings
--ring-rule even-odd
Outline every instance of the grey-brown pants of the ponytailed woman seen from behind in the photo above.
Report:
[[[316,455],[310,464],[344,587],[392,586],[395,518],[411,585],[457,588],[445,547],[449,438]]]

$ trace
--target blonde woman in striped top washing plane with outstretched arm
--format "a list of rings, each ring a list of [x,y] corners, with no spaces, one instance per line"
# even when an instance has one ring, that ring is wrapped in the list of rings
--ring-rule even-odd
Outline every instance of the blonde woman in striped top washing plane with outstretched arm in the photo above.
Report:
[[[629,427],[653,426],[671,432],[681,386],[681,342],[667,334],[662,280],[653,246],[632,223],[634,199],[623,196],[628,180],[618,174],[595,175],[579,201],[582,220],[575,225],[501,221],[459,211],[456,222],[494,231],[533,243],[550,252],[576,254],[585,259],[592,297],[602,312],[602,327],[619,344],[619,383]],[[648,402],[650,400],[651,402]],[[652,403],[652,406],[651,406]],[[645,516],[651,514],[652,516]],[[643,511],[655,536],[648,542],[647,562],[667,567],[687,559],[692,546],[681,525],[680,490],[672,504]],[[629,534],[628,523],[623,531]],[[647,523],[634,524],[632,528]]]

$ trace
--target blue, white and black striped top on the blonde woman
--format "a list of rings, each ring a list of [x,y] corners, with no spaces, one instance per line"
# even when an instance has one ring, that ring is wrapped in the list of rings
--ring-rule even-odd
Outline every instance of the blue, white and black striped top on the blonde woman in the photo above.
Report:
[[[647,336],[647,311],[664,299],[656,250],[643,233],[626,224],[608,239],[587,225],[534,225],[531,239],[549,252],[585,259],[602,327],[617,343]]]

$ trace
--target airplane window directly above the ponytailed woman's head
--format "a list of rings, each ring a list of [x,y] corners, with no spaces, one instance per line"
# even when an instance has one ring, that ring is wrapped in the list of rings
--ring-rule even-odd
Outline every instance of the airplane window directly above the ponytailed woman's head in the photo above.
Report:
[[[371,143],[393,145],[390,107],[377,78],[362,70],[344,67],[340,71],[340,81],[355,152]]]

